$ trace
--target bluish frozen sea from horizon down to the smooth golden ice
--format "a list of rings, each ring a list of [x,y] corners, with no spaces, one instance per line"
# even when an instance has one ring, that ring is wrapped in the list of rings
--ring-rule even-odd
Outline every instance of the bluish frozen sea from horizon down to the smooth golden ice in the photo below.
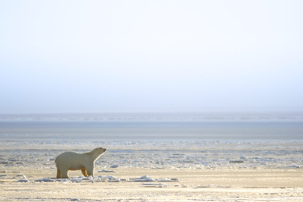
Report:
[[[0,115],[0,171],[55,169],[62,151],[107,148],[96,171],[302,167],[302,113]],[[110,169],[109,169],[110,170]]]

